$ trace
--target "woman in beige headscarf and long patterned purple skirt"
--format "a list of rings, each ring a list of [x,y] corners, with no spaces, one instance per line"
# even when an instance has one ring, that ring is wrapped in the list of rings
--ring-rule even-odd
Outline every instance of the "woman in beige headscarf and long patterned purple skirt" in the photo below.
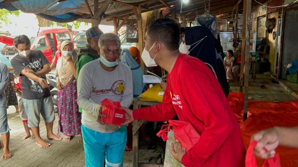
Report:
[[[70,141],[75,135],[80,135],[78,142],[82,142],[81,137],[81,114],[78,112],[76,102],[76,69],[74,62],[76,53],[71,41],[64,41],[61,44],[62,56],[57,61],[56,80],[58,91],[58,135],[61,132]]]

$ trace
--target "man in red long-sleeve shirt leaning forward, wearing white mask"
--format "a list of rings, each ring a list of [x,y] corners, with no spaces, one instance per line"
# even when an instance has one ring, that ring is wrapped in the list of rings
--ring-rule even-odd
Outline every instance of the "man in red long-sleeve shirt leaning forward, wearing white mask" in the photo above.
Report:
[[[214,37],[207,37],[214,38]],[[176,114],[201,135],[187,153],[177,140],[174,158],[185,167],[244,167],[245,147],[239,124],[216,76],[201,60],[179,52],[179,24],[170,18],[153,21],[145,35],[142,59],[168,71],[162,103],[131,111],[126,121],[164,121]]]

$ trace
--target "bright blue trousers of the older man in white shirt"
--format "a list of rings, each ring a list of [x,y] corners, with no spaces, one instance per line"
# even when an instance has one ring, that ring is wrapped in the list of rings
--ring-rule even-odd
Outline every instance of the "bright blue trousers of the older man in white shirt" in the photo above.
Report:
[[[86,167],[123,167],[127,127],[111,133],[100,133],[82,125]]]

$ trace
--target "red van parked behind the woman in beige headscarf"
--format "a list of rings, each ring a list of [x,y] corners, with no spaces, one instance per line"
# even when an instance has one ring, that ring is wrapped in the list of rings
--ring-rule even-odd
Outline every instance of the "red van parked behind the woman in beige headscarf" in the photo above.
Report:
[[[74,44],[72,34],[67,28],[41,27],[37,37],[31,44],[31,50],[40,50],[51,63],[58,50],[59,40],[69,40]]]

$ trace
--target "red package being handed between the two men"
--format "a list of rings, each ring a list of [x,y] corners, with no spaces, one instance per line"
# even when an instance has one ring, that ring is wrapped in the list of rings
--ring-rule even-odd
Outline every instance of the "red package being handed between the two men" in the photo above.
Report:
[[[101,113],[106,115],[100,120],[106,124],[121,125],[125,120],[125,111],[120,109],[121,104],[109,99],[104,99],[100,104],[103,106]]]

